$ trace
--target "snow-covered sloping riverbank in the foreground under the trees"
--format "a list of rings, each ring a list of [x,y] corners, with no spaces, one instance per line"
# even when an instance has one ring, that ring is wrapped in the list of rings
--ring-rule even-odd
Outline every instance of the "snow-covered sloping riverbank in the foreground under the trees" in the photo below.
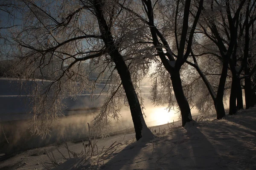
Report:
[[[52,152],[54,159],[61,162],[55,170],[256,169],[256,108],[239,111],[237,115],[227,116],[223,120],[209,119],[194,125],[190,123],[186,127],[169,127],[151,127],[156,138],[149,142],[136,142],[134,133],[97,139],[99,156],[96,154],[90,159],[84,156],[63,159],[63,156],[69,158],[64,144],[27,150],[9,158],[3,155],[0,156],[0,169],[46,169],[42,164],[47,167],[51,164],[46,163],[50,160],[45,150]],[[103,155],[114,142],[121,144]],[[84,150],[79,141],[67,142],[67,145],[69,150],[76,153]]]

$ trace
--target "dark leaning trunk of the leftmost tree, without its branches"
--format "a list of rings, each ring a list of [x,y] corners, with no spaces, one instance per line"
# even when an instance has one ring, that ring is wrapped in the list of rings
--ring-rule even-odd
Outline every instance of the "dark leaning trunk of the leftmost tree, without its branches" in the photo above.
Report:
[[[102,0],[96,0],[94,4],[95,14],[98,19],[99,29],[102,34],[102,40],[105,42],[108,54],[116,65],[116,70],[122,81],[123,88],[131,110],[131,117],[134,123],[136,139],[139,140],[143,136],[143,132],[150,135],[151,131],[148,129],[143,118],[143,113],[140,108],[140,102],[135,92],[134,86],[131,81],[131,74],[128,67],[123,60],[122,55],[119,53],[118,48],[114,42],[111,34],[111,29],[108,26],[105,17],[102,13]],[[153,136],[153,134],[151,134]],[[147,136],[148,137],[148,136]]]

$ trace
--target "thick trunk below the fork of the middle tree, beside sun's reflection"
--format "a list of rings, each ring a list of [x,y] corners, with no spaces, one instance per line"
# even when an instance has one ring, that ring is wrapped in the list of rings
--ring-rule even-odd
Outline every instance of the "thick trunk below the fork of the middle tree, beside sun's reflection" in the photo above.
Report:
[[[183,93],[180,72],[177,70],[172,71],[171,80],[175,98],[180,107],[182,126],[185,126],[186,122],[190,122],[192,120],[192,116],[189,108],[189,102],[187,101],[186,96]]]

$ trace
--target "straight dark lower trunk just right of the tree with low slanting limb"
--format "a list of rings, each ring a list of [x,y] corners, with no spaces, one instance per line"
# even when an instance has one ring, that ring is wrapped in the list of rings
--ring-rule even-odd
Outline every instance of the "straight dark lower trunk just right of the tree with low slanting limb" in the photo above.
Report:
[[[230,91],[230,101],[229,101],[229,114],[233,115],[236,114],[236,90],[237,90],[237,78],[236,76],[232,77],[232,84],[231,84],[231,91]]]

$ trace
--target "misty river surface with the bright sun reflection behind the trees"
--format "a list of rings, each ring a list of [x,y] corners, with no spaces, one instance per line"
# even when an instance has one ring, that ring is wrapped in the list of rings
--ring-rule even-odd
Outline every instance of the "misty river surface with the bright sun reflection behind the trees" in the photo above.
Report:
[[[244,96],[243,96],[244,99]],[[226,101],[225,108],[228,108],[229,101]],[[163,125],[170,122],[178,121],[179,117],[175,110],[168,112],[166,106],[154,106],[151,103],[145,104],[145,122],[151,126]],[[29,120],[2,122],[6,137],[9,144],[6,143],[3,136],[3,131],[0,130],[0,153],[16,152],[29,148],[42,147],[48,144],[64,142],[64,137],[72,141],[74,139],[86,139],[88,137],[88,125],[91,125],[93,117],[98,112],[92,111],[69,111],[65,117],[61,117],[56,122],[45,139],[41,136],[32,135],[29,132]],[[192,117],[197,114],[195,109],[192,109]],[[128,127],[134,127],[131,112],[129,107],[123,106],[120,111],[119,120],[112,120],[111,127],[113,132],[125,130]],[[195,117],[193,117],[195,119]]]

